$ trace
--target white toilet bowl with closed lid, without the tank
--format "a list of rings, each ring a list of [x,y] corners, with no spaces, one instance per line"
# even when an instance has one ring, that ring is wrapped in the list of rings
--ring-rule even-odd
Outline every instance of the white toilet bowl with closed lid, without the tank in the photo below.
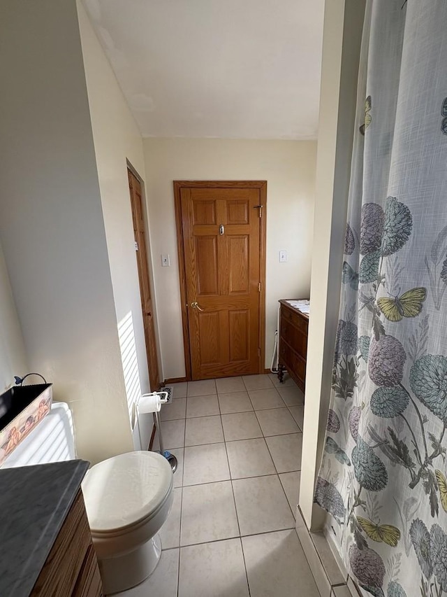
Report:
[[[119,454],[94,465],[82,482],[105,594],[140,584],[161,556],[157,534],[173,505],[173,472],[154,452]]]

